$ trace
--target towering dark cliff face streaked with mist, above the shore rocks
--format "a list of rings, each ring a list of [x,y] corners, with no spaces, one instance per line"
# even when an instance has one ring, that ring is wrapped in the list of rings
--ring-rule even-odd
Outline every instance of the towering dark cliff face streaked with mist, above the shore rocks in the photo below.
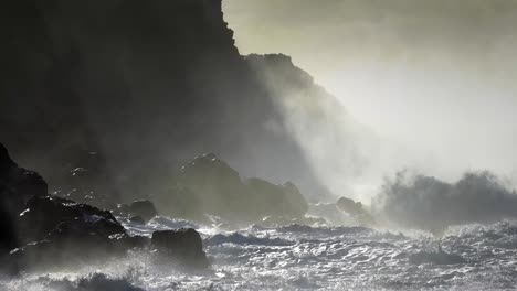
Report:
[[[155,191],[169,163],[203,152],[317,184],[221,0],[20,0],[0,13],[1,139],[51,190],[88,152],[114,197]]]

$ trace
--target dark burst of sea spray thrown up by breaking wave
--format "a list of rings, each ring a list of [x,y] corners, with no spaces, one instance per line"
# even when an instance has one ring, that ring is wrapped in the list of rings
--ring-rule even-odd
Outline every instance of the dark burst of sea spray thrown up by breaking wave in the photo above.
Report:
[[[517,217],[516,192],[489,172],[465,173],[454,183],[399,172],[384,181],[373,202],[373,213],[387,226],[425,229],[435,235],[453,225]]]

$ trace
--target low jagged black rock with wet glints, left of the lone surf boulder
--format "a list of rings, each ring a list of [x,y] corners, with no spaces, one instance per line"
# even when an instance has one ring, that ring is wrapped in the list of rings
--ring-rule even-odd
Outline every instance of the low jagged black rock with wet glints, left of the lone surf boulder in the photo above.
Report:
[[[122,256],[148,241],[130,237],[107,211],[55,197],[33,197],[20,215],[21,247],[11,261],[19,268],[73,265]]]

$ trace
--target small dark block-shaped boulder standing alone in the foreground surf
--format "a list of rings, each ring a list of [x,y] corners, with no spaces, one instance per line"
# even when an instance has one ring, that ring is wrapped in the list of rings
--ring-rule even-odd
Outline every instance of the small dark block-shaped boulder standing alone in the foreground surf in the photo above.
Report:
[[[151,248],[158,252],[162,262],[179,262],[180,266],[196,269],[209,267],[201,236],[192,228],[155,231]]]

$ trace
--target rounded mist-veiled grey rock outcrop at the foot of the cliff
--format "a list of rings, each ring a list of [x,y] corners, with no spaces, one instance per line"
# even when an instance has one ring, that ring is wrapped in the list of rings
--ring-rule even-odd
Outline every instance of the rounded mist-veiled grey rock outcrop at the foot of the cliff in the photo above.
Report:
[[[293,183],[275,185],[256,177],[243,182],[234,169],[213,153],[188,161],[175,183],[176,188],[154,200],[161,213],[182,218],[202,220],[203,214],[209,214],[233,223],[255,223],[267,216],[288,222],[303,218],[308,209]],[[178,209],[177,205],[186,208]]]

